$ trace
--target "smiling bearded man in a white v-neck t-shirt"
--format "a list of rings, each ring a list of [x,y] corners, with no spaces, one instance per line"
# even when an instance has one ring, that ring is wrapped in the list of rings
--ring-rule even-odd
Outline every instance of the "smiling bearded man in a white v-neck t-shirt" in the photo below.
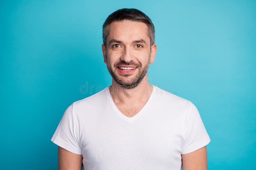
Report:
[[[108,16],[102,52],[112,85],[65,111],[51,139],[59,169],[207,169],[210,138],[196,106],[147,81],[154,41],[154,25],[141,11]]]

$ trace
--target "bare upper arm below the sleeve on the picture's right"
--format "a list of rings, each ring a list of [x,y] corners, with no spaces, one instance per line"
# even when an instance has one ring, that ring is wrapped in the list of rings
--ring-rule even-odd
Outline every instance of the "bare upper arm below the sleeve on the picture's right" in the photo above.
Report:
[[[187,154],[182,154],[183,170],[207,170],[206,146]]]

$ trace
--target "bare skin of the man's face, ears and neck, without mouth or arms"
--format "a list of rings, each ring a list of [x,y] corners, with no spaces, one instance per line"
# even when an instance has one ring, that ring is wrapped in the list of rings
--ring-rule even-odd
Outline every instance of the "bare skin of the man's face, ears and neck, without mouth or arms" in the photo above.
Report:
[[[154,62],[156,44],[150,46],[148,26],[145,23],[129,20],[115,21],[109,26],[107,44],[102,45],[102,53],[104,62],[111,67],[118,78],[123,83],[131,84],[149,63]],[[119,63],[138,67],[131,75],[120,74],[117,69]],[[127,117],[134,116],[143,108],[152,90],[153,86],[148,83],[148,74],[133,89],[120,87],[113,78],[109,88],[116,107]],[[145,93],[142,93],[143,91]]]

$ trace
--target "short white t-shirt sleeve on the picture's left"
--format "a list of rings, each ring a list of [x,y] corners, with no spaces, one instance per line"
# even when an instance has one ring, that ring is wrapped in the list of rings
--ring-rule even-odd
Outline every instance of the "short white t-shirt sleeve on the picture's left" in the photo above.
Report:
[[[73,113],[72,103],[64,112],[60,123],[54,132],[51,141],[60,147],[76,153],[82,154],[82,150],[79,145],[78,132],[76,127],[76,118]]]

